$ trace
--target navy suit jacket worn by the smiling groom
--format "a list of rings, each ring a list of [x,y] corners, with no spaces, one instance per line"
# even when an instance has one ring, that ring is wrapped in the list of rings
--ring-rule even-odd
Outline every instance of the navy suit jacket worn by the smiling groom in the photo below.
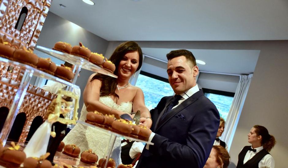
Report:
[[[173,96],[163,97],[150,111],[154,145],[144,148],[137,168],[203,168],[213,146],[219,112],[203,91],[184,100],[162,120]]]

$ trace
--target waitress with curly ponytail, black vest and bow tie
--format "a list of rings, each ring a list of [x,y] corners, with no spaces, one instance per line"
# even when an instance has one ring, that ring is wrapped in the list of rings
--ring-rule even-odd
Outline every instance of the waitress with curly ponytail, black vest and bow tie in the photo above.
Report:
[[[245,146],[238,155],[237,168],[275,167],[275,161],[269,154],[275,146],[273,135],[264,126],[255,125],[248,134],[248,142],[252,146]]]

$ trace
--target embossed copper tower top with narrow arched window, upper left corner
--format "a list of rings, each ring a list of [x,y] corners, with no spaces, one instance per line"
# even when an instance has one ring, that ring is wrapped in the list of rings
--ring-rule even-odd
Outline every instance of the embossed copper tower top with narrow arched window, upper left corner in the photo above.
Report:
[[[0,0],[0,37],[18,48],[34,49],[52,0]],[[15,29],[23,7],[28,9],[21,31]]]

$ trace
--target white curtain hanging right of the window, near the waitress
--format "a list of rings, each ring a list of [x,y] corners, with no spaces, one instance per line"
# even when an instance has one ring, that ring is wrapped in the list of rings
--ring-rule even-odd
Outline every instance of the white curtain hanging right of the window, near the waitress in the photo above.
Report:
[[[226,142],[226,145],[228,145],[228,151],[230,150],[230,146],[232,144],[234,133],[237,128],[238,120],[241,115],[241,111],[249,89],[252,76],[253,76],[252,74],[240,76],[240,80],[237,85],[237,89],[231,104],[231,108],[229,110],[229,114],[226,119],[225,124],[226,129],[220,139]]]

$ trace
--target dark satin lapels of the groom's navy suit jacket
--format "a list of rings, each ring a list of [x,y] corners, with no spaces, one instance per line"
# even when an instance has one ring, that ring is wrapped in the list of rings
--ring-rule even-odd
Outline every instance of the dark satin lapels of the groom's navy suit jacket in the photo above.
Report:
[[[184,108],[186,108],[188,105],[194,103],[200,96],[204,95],[203,91],[198,91],[195,94],[193,94],[191,97],[189,97],[188,99],[184,100],[181,104],[179,104],[176,108],[173,108],[170,113],[161,121],[159,122],[159,119],[162,115],[160,115],[157,119],[157,125],[155,130],[157,131],[161,126],[163,126],[169,119],[171,119],[173,116],[175,116],[177,113],[179,113],[180,111],[182,111]],[[170,103],[170,101],[169,101]],[[169,104],[168,103],[168,104]],[[165,108],[163,109],[162,112],[164,112],[168,106],[168,104],[166,104]],[[161,112],[161,114],[163,114]],[[156,132],[155,131],[155,132]]]

